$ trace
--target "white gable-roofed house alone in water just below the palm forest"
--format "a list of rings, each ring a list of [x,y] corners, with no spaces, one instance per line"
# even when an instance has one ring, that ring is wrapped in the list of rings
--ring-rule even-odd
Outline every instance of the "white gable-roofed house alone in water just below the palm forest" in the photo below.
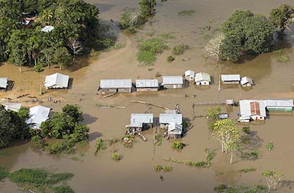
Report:
[[[46,75],[44,86],[46,88],[67,88],[70,76],[55,73],[53,75]]]

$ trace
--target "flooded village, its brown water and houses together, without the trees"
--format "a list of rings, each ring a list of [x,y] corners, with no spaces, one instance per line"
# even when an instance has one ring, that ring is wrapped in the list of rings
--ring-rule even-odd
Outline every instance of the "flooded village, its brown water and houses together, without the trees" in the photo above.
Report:
[[[294,6],[293,1],[157,1],[156,15],[136,34],[122,32],[118,23],[122,10],[138,1],[87,2],[98,8],[100,20],[112,25],[117,44],[124,46],[98,56],[76,56],[69,68],[61,70],[51,66],[35,72],[23,66],[20,72],[14,64],[1,63],[0,87],[6,90],[0,92],[0,104],[11,111],[29,108],[26,123],[33,129],[63,111],[63,106],[77,105],[83,112],[82,123],[89,125],[89,142],[78,144],[75,154],[49,154],[35,149],[30,140],[18,140],[0,149],[0,166],[9,172],[44,168],[72,173],[66,185],[75,192],[122,193],[210,193],[219,185],[267,187],[262,173],[275,170],[283,179],[272,192],[293,192],[294,25],[283,40],[274,38],[281,53],[242,56],[236,63],[205,56],[207,37],[234,11],[251,10],[268,17],[272,8]],[[186,10],[195,13],[179,14]],[[139,44],[160,36],[169,36],[170,48],[177,44],[190,48],[172,62],[167,61],[172,49],[159,54],[152,65],[137,61]],[[281,54],[288,56],[288,62],[277,60]],[[231,154],[222,153],[207,118],[207,109],[218,106],[217,120],[233,120],[238,133],[251,140],[243,150],[255,152],[255,158],[234,153],[230,163]],[[119,142],[95,155],[100,139]],[[130,141],[132,147],[125,147]],[[177,141],[183,149],[172,148]],[[271,151],[269,142],[274,144]],[[120,161],[113,161],[114,152]],[[210,153],[214,156],[208,161]],[[209,166],[187,166],[184,161],[207,161]],[[155,166],[172,170],[158,172]],[[0,192],[29,191],[4,179]]]

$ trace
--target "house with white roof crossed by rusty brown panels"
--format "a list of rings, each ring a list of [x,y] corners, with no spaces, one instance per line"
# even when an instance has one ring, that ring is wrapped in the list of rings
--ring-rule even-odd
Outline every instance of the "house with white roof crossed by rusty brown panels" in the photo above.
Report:
[[[250,120],[264,120],[267,117],[264,101],[243,100],[240,104],[240,117],[238,121],[249,122]]]

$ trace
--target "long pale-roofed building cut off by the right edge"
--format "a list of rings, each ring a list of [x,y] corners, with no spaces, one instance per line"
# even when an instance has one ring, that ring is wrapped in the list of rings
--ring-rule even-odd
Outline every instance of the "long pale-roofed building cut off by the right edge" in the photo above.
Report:
[[[268,111],[293,111],[293,100],[265,100]]]

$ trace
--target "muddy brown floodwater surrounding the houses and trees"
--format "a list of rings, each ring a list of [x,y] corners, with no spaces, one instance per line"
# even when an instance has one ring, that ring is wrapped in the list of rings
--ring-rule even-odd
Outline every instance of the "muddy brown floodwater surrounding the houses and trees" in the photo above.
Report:
[[[108,20],[118,17],[124,7],[136,6],[137,1],[91,0],[98,6],[101,19]],[[294,34],[287,32],[285,41],[281,44],[283,54],[290,57],[288,63],[278,63],[278,54],[262,54],[255,58],[244,59],[242,63],[220,63],[217,67],[215,61],[205,60],[203,57],[205,40],[203,36],[211,34],[222,21],[236,9],[250,9],[255,13],[269,15],[271,8],[282,3],[294,4],[293,1],[281,0],[168,0],[158,2],[157,14],[151,24],[147,24],[141,33],[155,32],[155,35],[171,32],[176,39],[168,40],[169,46],[175,44],[188,44],[192,47],[181,56],[177,56],[173,63],[167,63],[165,58],[171,54],[170,50],[158,56],[154,66],[141,66],[136,61],[137,39],[141,34],[128,36],[119,33],[119,42],[126,46],[123,49],[103,53],[96,58],[79,58],[77,63],[81,68],[63,70],[72,77],[68,90],[49,91],[39,97],[40,85],[45,75],[60,72],[59,68],[45,69],[41,73],[34,73],[30,68],[23,68],[22,73],[16,66],[4,64],[0,66],[0,77],[8,76],[15,81],[13,90],[0,93],[0,99],[12,98],[12,101],[21,101],[24,106],[33,106],[28,98],[16,99],[18,95],[30,93],[44,100],[44,106],[60,111],[65,104],[78,104],[84,111],[84,123],[90,127],[89,146],[79,149],[84,156],[75,161],[71,156],[51,156],[35,150],[30,142],[16,142],[12,147],[1,151],[11,152],[11,156],[1,156],[0,165],[8,170],[20,168],[48,168],[58,172],[70,172],[75,176],[68,182],[75,192],[214,192],[216,185],[227,183],[230,185],[253,184],[255,182],[265,185],[262,171],[277,170],[285,175],[276,192],[293,192],[294,187],[294,144],[292,113],[280,115],[271,113],[265,123],[250,123],[250,130],[255,134],[255,147],[258,147],[261,158],[256,161],[242,161],[234,157],[234,163],[229,164],[229,156],[221,153],[219,143],[212,139],[207,128],[206,118],[195,118],[205,114],[207,106],[196,106],[193,103],[200,101],[224,101],[225,99],[294,99],[292,84],[294,83]],[[181,17],[179,11],[195,9],[192,17]],[[202,30],[210,25],[212,30]],[[294,30],[294,29],[293,29]],[[190,61],[181,61],[182,58],[191,58]],[[148,70],[148,68],[154,68]],[[96,94],[101,78],[154,78],[156,73],[161,75],[182,75],[185,70],[203,71],[210,73],[215,82],[218,81],[218,69],[221,73],[240,73],[252,77],[256,83],[253,89],[243,89],[238,86],[222,87],[218,92],[217,84],[207,89],[191,85],[185,89],[165,90],[157,93],[117,94],[114,97],[100,99]],[[161,80],[161,78],[159,78]],[[192,95],[196,94],[193,98]],[[187,95],[188,97],[185,97]],[[52,97],[60,99],[60,103],[53,104],[46,100]],[[78,99],[82,99],[79,101]],[[143,132],[148,142],[136,138],[134,147],[126,149],[122,144],[115,144],[115,149],[123,155],[122,161],[114,162],[111,158],[113,148],[94,156],[96,139],[121,138],[124,135],[124,126],[129,124],[130,113],[154,113],[158,117],[163,110],[160,108],[130,104],[131,100],[140,100],[174,108],[179,103],[184,118],[188,118],[195,125],[182,139],[188,143],[182,151],[171,149],[172,140],[163,140],[162,146],[154,147],[154,130]],[[125,106],[125,108],[96,108],[96,104],[111,104]],[[230,113],[236,119],[238,108],[223,107],[222,111]],[[238,129],[244,126],[238,124]],[[274,142],[274,149],[267,151],[268,142]],[[215,149],[217,156],[212,160],[212,166],[205,169],[190,168],[176,163],[167,163],[164,158],[177,158],[180,160],[203,160],[205,147]],[[174,168],[169,173],[156,173],[153,166],[158,163],[170,165]],[[232,173],[245,168],[257,168],[250,173]],[[219,175],[219,173],[223,173]],[[164,180],[161,181],[159,175]],[[0,182],[0,192],[22,192],[15,184],[4,180]]]

